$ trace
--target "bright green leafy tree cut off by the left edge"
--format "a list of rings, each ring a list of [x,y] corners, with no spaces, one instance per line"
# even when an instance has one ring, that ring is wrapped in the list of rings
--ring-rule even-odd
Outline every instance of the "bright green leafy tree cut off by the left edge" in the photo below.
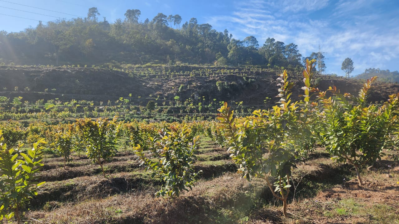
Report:
[[[41,160],[45,143],[44,139],[40,139],[26,153],[19,151],[22,145],[8,149],[0,130],[0,220],[16,216],[19,224],[21,210],[38,195],[38,187],[45,183],[36,179],[43,166]]]

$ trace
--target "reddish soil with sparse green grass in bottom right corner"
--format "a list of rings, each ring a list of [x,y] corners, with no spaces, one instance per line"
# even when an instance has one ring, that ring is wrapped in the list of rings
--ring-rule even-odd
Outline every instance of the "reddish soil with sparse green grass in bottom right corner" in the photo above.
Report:
[[[395,167],[389,170],[391,174],[384,169],[363,171],[363,187],[357,179],[345,180],[315,197],[292,203],[292,220],[312,224],[397,224],[399,175],[392,175],[394,172]]]

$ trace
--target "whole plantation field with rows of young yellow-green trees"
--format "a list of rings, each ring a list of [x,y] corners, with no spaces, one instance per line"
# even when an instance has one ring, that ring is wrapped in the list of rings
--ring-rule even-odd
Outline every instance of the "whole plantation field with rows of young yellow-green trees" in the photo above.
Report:
[[[370,102],[377,77],[357,96],[319,90],[314,63],[302,94],[284,71],[274,106],[222,102],[217,121],[190,110],[178,122],[136,120],[123,98],[102,112],[82,101],[79,112],[76,100],[43,111],[3,97],[3,118],[20,119],[0,122],[0,220],[399,224],[399,93]]]

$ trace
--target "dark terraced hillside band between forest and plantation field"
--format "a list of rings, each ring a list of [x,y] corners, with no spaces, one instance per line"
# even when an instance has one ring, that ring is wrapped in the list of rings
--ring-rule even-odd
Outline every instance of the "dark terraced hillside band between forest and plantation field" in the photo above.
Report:
[[[22,96],[24,100],[72,99],[114,102],[128,98],[134,105],[145,106],[149,100],[161,105],[163,101],[181,102],[243,101],[243,105],[262,106],[277,92],[276,78],[281,71],[238,67],[156,67],[156,68],[85,68],[85,67],[13,67],[0,66],[0,96]],[[300,74],[288,71],[298,84]],[[336,85],[341,92],[355,94],[363,81],[320,76],[316,80],[321,90]],[[300,89],[300,88],[296,88]],[[399,92],[398,84],[376,84],[372,102],[386,100]],[[131,94],[131,96],[129,96]],[[293,96],[299,93],[294,92]],[[202,100],[202,101],[201,101]],[[273,102],[271,102],[273,103]]]

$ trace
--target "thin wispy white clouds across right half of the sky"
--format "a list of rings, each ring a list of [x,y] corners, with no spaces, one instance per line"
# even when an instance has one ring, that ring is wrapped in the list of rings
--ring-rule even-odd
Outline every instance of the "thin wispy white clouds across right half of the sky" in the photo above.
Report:
[[[354,74],[369,67],[396,65],[399,18],[378,8],[377,0],[250,0],[235,2],[228,16],[213,16],[209,24],[229,27],[236,39],[254,35],[262,45],[267,37],[295,43],[303,56],[326,52],[327,72],[340,73],[342,61],[352,58]],[[328,7],[328,8],[326,8]],[[323,9],[317,18],[310,14]],[[366,11],[364,11],[366,10]],[[363,12],[364,11],[364,12]]]

